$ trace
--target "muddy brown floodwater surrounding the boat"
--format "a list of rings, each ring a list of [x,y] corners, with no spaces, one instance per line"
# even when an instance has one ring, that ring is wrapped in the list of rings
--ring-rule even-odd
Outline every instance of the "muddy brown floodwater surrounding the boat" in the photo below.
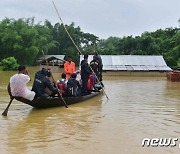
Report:
[[[0,113],[9,103],[6,86],[14,73],[0,72]],[[109,100],[102,94],[68,109],[37,110],[13,101],[8,116],[0,117],[0,153],[180,153],[180,82],[107,76],[104,85]],[[178,141],[175,147],[142,147],[144,138]]]

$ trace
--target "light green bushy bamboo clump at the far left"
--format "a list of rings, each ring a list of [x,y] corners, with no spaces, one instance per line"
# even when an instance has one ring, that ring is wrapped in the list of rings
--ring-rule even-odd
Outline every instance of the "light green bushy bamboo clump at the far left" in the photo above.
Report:
[[[1,59],[14,56],[20,64],[32,65],[41,50],[56,46],[49,27],[34,24],[34,18],[4,19],[0,23]]]

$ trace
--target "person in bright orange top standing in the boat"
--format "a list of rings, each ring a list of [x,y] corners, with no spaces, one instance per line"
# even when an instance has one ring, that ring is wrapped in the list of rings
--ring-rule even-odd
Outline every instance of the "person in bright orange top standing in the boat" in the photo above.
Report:
[[[68,56],[67,61],[64,63],[64,73],[66,79],[71,77],[71,74],[75,72],[75,63],[72,61],[71,56]]]

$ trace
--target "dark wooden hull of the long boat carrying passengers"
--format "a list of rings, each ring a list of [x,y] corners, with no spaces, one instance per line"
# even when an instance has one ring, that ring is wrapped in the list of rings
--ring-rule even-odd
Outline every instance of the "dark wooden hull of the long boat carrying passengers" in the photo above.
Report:
[[[92,97],[95,97],[102,93],[103,90],[100,90],[99,92],[92,92],[89,95],[85,96],[77,96],[77,97],[63,97],[66,104],[75,104],[79,103],[85,100],[88,100]],[[50,108],[50,107],[58,107],[58,106],[64,106],[64,102],[61,97],[51,97],[51,98],[35,98],[34,100],[30,101],[22,97],[14,97],[17,101],[23,102],[25,104],[28,104],[34,108]]]

